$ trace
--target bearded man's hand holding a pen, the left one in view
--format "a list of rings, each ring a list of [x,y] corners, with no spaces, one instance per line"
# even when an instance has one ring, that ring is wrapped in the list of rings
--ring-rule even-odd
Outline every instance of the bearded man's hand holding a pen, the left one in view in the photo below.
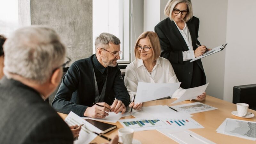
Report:
[[[84,112],[84,116],[92,117],[92,118],[104,118],[108,116],[108,112],[110,112],[111,107],[105,102],[98,102],[98,105],[93,105],[92,107],[86,108]]]

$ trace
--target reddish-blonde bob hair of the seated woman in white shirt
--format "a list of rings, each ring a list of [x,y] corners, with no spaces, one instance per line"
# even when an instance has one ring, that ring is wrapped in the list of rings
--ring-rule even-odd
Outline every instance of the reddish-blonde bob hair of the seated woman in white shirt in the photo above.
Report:
[[[136,59],[140,59],[140,52],[137,50],[136,46],[138,45],[140,39],[143,39],[143,38],[149,39],[150,46],[153,52],[153,60],[156,60],[157,58],[159,58],[161,54],[161,46],[160,46],[158,36],[153,31],[146,31],[139,36],[134,46],[134,53],[135,53]]]

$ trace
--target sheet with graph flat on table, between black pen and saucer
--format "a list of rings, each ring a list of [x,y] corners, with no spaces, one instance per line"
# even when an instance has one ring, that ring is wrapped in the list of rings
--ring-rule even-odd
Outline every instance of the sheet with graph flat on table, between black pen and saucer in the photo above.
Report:
[[[212,106],[203,104],[201,102],[176,105],[176,106],[172,106],[172,108],[178,110],[179,112],[185,112],[188,114],[194,114],[194,113],[200,113],[200,112],[204,112],[204,111],[218,109],[218,108],[214,108]]]

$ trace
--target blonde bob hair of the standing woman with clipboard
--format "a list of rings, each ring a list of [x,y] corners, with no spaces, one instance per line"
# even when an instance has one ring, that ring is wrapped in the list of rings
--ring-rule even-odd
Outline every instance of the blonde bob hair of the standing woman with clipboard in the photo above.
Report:
[[[169,0],[164,8],[164,15],[168,16],[171,20],[173,20],[172,19],[172,11],[173,11],[174,7],[179,3],[185,3],[188,5],[188,13],[183,19],[183,21],[187,22],[188,20],[192,19],[192,17],[193,17],[191,0]]]

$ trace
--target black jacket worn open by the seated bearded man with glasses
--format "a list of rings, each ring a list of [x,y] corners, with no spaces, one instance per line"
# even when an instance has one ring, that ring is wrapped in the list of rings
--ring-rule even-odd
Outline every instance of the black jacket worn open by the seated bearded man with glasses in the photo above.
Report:
[[[94,54],[89,58],[77,60],[68,68],[52,101],[52,107],[58,112],[68,114],[73,111],[78,116],[84,116],[86,108],[93,106],[95,102],[93,57]],[[112,105],[115,98],[121,100],[125,106],[130,103],[130,96],[118,65],[108,67],[105,99],[101,102]]]

